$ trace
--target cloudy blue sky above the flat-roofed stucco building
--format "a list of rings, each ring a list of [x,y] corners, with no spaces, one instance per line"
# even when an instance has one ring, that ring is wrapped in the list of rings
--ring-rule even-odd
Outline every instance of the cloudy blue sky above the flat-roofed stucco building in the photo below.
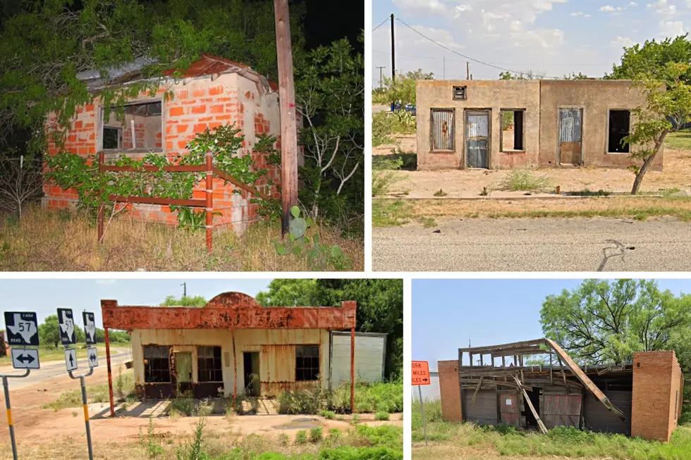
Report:
[[[691,0],[372,0],[372,27],[393,13],[423,35],[460,54],[548,77],[582,72],[601,77],[623,46],[689,31]],[[398,72],[422,68],[436,78],[465,78],[467,59],[396,21]],[[372,85],[377,66],[391,75],[391,27],[372,33]],[[473,78],[495,79],[496,68],[470,63]]]

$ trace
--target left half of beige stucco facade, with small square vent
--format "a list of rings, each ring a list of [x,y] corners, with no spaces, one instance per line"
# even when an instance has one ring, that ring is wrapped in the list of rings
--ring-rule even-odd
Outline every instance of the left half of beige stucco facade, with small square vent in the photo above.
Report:
[[[466,99],[454,100],[453,87],[466,86]],[[465,168],[465,111],[491,110],[489,168],[537,166],[540,87],[532,80],[417,80],[417,168]],[[453,152],[430,151],[430,110],[455,109]],[[501,109],[525,109],[525,151],[500,152]]]

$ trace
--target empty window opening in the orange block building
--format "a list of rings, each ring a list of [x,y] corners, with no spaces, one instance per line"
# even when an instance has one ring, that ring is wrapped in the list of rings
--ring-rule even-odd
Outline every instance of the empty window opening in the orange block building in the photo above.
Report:
[[[104,150],[161,151],[161,101],[111,107],[103,111],[101,145]]]

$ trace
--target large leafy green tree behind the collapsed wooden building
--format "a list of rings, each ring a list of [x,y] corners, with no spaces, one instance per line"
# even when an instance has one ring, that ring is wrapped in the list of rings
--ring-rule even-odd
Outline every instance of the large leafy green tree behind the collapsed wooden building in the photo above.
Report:
[[[621,363],[634,352],[668,349],[691,325],[691,296],[675,297],[647,280],[586,280],[546,297],[540,323],[577,361]]]

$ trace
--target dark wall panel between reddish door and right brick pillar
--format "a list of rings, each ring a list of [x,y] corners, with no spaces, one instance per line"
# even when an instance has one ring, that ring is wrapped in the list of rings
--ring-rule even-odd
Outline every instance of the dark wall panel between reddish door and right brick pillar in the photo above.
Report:
[[[592,431],[601,433],[620,433],[622,435],[631,434],[631,392],[622,390],[604,391],[606,397],[620,409],[625,420],[607,409],[604,404],[587,392],[585,402],[583,402],[583,421],[585,427]]]

